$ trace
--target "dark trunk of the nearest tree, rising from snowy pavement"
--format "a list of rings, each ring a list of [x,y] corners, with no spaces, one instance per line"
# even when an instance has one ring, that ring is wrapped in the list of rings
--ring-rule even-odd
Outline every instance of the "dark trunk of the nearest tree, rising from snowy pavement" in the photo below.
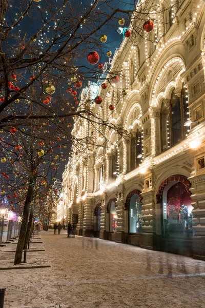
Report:
[[[20,226],[20,233],[18,238],[18,243],[16,247],[14,265],[22,263],[22,254],[26,237],[26,229],[28,224],[30,205],[33,200],[33,179],[29,181],[29,188],[27,191],[26,201],[24,204],[24,211],[22,217],[22,225]]]

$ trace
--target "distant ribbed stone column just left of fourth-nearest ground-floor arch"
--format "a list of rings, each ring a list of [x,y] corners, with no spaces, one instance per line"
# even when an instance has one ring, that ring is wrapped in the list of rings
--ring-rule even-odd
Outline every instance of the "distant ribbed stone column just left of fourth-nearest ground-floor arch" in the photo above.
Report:
[[[84,205],[83,236],[93,237],[93,200],[87,197]]]

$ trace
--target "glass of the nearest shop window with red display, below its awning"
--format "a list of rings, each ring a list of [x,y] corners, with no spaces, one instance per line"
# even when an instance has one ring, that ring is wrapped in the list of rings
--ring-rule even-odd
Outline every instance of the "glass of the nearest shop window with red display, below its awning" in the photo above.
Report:
[[[165,237],[192,237],[193,214],[190,192],[182,182],[173,181],[163,190],[163,230]]]

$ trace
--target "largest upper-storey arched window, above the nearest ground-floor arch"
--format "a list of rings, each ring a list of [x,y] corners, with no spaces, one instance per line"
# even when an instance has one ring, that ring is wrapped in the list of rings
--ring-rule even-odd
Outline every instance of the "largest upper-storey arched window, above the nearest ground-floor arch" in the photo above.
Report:
[[[172,92],[169,104],[162,103],[160,113],[161,151],[179,143],[186,137],[184,124],[189,118],[186,91],[181,91],[180,97]]]

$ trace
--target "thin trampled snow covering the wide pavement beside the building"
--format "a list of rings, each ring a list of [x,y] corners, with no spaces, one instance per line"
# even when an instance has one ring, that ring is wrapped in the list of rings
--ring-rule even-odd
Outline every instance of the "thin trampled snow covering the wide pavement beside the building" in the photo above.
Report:
[[[205,308],[205,262],[40,232],[50,268],[0,271],[5,307]],[[32,254],[32,253],[30,253]]]

